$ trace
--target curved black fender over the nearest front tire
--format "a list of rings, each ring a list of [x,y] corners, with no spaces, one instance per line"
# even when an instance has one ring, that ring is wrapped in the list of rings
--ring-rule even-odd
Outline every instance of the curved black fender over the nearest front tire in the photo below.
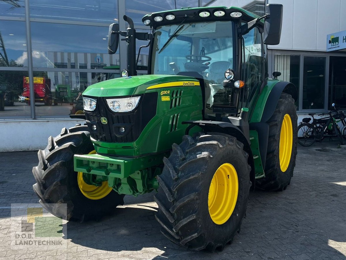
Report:
[[[204,120],[198,120],[198,121],[184,121],[182,124],[190,124],[186,130],[185,135],[189,135],[189,131],[191,128],[198,126],[202,128],[203,132],[218,132],[218,133],[226,133],[227,135],[234,136],[243,143],[244,150],[248,154],[247,163],[251,166],[250,171],[250,181],[252,183],[251,190],[255,189],[255,165],[254,165],[254,159],[252,150],[250,147],[250,143],[243,134],[242,131],[239,130],[238,127],[236,127],[234,124],[228,123],[228,122],[218,122],[218,121],[204,121]]]

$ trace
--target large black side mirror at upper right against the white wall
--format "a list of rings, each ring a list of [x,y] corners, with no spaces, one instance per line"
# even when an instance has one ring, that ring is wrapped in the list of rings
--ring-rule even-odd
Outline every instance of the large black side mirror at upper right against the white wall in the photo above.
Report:
[[[264,21],[264,44],[276,45],[280,43],[282,10],[280,4],[268,4],[265,8],[267,18]]]

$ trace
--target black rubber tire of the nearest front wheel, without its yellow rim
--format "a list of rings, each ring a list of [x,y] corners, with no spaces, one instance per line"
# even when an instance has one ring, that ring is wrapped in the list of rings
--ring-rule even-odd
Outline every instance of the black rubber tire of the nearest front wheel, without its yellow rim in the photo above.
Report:
[[[238,162],[239,165],[244,165],[242,168],[244,176],[238,177],[243,183],[243,188],[239,187],[239,194],[242,195],[238,195],[238,198],[239,200],[244,198],[244,204],[236,206],[238,211],[232,215],[234,216],[232,222],[236,221],[231,227],[232,231],[228,233],[223,230],[219,232],[221,234],[213,234],[212,238],[209,233],[217,232],[211,227],[201,226],[205,225],[204,221],[210,217],[209,213],[201,214],[198,211],[201,205],[201,192],[206,191],[203,188],[206,182],[203,180],[206,178],[204,175],[208,165],[216,163],[216,158],[220,158],[228,149],[236,149],[238,152],[235,154],[239,157],[235,157],[233,153],[230,156],[233,156],[231,158],[237,162],[239,159],[235,158],[240,158],[242,162]],[[193,138],[184,136],[179,146],[174,144],[171,156],[163,160],[165,167],[162,174],[157,176],[160,185],[158,193],[154,196],[158,205],[156,218],[162,226],[161,233],[173,243],[196,251],[222,250],[226,244],[233,241],[233,237],[240,229],[241,220],[245,217],[251,186],[249,181],[251,167],[247,164],[247,158],[248,154],[243,150],[243,144],[235,137],[223,133],[200,132]],[[209,185],[210,182],[208,188]]]

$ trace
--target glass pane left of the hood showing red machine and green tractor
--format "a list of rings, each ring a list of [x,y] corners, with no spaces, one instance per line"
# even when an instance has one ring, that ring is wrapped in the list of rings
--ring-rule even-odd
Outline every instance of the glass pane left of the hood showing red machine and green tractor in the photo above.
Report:
[[[37,116],[69,117],[83,112],[81,94],[90,85],[118,78],[115,72],[34,71]]]

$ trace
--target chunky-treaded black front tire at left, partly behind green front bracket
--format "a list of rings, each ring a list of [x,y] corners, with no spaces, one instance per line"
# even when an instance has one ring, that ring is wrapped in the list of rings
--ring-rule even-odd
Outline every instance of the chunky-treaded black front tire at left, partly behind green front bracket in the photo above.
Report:
[[[102,199],[85,197],[73,168],[73,155],[94,150],[86,125],[63,128],[61,134],[48,138],[48,145],[38,151],[38,166],[33,167],[34,191],[39,202],[53,215],[74,221],[98,220],[124,204],[124,195],[111,191]],[[67,213],[62,210],[67,205]],[[63,212],[64,211],[64,212]]]

